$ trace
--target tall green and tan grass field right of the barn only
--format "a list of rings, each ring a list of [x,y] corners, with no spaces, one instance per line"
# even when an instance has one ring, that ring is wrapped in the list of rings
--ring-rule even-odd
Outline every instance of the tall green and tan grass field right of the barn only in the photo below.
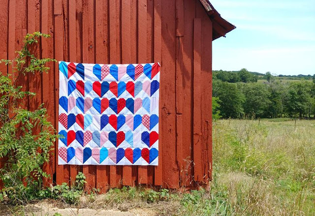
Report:
[[[222,215],[315,215],[315,121],[214,123],[212,193]]]

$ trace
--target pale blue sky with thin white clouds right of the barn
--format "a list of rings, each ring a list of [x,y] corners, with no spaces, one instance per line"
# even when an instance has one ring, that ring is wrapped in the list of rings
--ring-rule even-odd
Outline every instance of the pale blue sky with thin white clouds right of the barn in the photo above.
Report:
[[[210,0],[236,29],[213,42],[213,69],[315,74],[315,0]]]

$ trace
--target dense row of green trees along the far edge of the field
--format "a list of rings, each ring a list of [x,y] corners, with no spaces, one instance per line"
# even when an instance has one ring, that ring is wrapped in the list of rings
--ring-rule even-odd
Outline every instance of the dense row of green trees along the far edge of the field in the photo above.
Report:
[[[268,84],[213,81],[214,118],[314,118],[315,80]]]

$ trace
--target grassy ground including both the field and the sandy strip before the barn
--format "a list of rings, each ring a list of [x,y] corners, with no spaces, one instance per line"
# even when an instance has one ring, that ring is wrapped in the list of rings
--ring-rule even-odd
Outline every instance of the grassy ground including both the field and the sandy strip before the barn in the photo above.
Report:
[[[210,192],[124,187],[82,197],[77,206],[46,200],[20,212],[47,216],[56,212],[57,216],[314,216],[315,120],[218,120],[213,123],[213,170]]]

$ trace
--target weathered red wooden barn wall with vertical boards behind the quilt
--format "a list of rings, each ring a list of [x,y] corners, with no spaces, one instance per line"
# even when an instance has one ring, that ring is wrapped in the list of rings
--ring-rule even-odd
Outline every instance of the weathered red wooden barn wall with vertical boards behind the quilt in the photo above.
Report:
[[[27,32],[51,34],[39,57],[84,63],[160,62],[159,165],[58,165],[46,184],[82,171],[88,189],[146,184],[169,188],[208,183],[212,166],[212,22],[199,0],[0,0],[0,59],[14,59]],[[19,80],[45,103],[58,129],[58,63]],[[0,65],[2,73],[12,69]],[[55,144],[56,145],[56,144]],[[57,148],[55,148],[57,149]],[[55,150],[57,151],[57,150]]]

